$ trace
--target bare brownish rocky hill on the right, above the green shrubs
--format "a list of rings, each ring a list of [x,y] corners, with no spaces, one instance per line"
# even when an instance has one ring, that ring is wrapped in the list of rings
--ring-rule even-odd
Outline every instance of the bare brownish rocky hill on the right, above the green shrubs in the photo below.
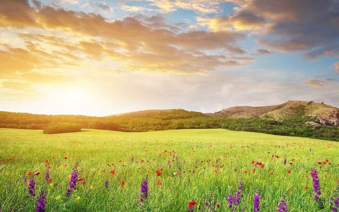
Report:
[[[206,113],[210,117],[218,118],[253,118],[283,121],[293,116],[315,118],[316,122],[323,125],[339,126],[339,108],[313,101],[287,101],[283,104],[251,107],[240,106],[223,109],[215,113]]]

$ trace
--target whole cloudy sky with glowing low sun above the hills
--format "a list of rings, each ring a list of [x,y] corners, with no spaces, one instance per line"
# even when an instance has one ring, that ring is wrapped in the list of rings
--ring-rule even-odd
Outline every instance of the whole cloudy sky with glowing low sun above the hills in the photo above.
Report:
[[[1,0],[0,111],[339,107],[337,0]]]

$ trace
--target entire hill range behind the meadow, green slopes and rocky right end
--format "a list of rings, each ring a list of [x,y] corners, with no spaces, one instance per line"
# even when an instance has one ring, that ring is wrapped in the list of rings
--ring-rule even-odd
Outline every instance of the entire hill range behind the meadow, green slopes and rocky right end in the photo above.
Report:
[[[146,110],[105,117],[0,112],[0,128],[42,130],[59,126],[59,123],[121,132],[223,128],[339,141],[338,116],[338,108],[330,105],[287,101],[263,107],[232,107],[214,114],[183,109]]]

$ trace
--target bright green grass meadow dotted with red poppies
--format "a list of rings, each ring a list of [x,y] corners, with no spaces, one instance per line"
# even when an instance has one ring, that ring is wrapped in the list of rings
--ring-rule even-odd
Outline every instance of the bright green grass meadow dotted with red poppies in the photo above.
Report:
[[[47,194],[46,211],[179,212],[188,211],[190,200],[197,203],[194,211],[199,211],[198,204],[200,210],[214,211],[216,203],[216,211],[232,211],[227,196],[235,194],[238,180],[243,198],[236,211],[253,211],[257,189],[260,211],[273,212],[284,193],[289,212],[331,211],[331,192],[339,180],[338,142],[223,129],[54,135],[0,129],[0,160],[1,212],[35,211],[39,191]],[[66,196],[76,162],[77,178],[83,180]],[[323,209],[314,200],[311,169],[318,172]],[[40,175],[34,176],[36,172]],[[145,175],[148,198],[140,204]],[[35,197],[28,193],[33,176]]]

